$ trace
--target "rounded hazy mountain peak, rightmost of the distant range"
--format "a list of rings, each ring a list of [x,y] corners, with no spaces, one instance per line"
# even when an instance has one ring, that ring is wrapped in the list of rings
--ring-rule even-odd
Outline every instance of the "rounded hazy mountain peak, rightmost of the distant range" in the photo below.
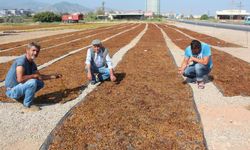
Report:
[[[89,12],[91,9],[79,4],[69,2],[59,2],[48,7],[43,8],[40,11],[52,11],[57,13],[74,13],[74,12]]]

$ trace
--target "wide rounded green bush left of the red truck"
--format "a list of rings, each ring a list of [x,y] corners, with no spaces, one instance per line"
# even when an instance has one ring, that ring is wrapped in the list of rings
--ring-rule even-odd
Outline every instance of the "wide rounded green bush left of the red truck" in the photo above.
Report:
[[[61,21],[61,16],[53,12],[41,12],[34,15],[33,20],[35,22],[56,22]]]

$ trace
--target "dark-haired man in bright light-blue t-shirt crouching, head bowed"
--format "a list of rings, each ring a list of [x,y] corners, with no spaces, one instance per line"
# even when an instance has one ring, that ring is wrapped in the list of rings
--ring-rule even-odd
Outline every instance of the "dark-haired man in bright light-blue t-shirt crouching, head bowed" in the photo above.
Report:
[[[191,45],[185,49],[185,56],[179,68],[179,73],[191,79],[196,78],[198,88],[203,89],[205,88],[203,78],[208,75],[212,67],[210,46],[193,40]]]

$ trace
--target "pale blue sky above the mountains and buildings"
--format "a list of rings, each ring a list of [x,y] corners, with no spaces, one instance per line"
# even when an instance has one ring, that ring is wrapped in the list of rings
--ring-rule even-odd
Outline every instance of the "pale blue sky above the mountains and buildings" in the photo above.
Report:
[[[145,0],[37,0],[47,3],[69,1],[88,8],[105,7],[117,10],[145,10]],[[241,7],[240,7],[241,3]],[[250,12],[250,0],[161,0],[161,12],[184,13],[186,15],[214,15],[217,10],[244,9]]]

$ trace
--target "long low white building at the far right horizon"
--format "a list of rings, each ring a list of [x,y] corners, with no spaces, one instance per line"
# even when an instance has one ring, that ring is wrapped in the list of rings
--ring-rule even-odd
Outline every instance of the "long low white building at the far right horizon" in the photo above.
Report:
[[[250,14],[246,10],[222,10],[216,11],[216,18],[219,20],[244,20]]]

